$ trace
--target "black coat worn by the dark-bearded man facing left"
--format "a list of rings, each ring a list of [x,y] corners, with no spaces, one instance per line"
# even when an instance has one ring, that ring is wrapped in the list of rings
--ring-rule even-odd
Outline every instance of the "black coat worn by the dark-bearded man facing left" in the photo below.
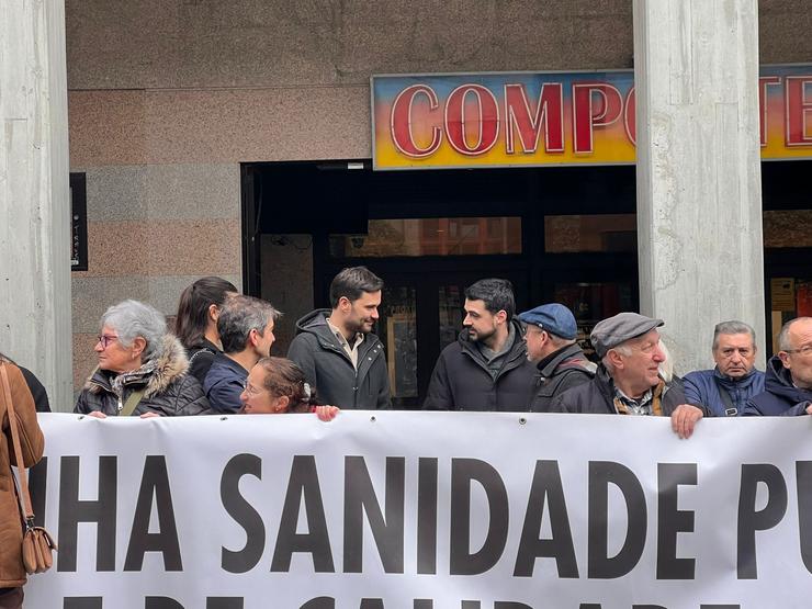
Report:
[[[523,330],[514,319],[515,339],[496,379],[467,330],[442,350],[431,373],[425,410],[528,411],[535,365],[527,359]]]

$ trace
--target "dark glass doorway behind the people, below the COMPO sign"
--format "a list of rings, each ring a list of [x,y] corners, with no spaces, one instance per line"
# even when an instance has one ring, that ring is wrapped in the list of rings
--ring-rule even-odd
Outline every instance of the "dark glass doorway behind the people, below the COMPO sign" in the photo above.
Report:
[[[509,279],[518,311],[569,306],[584,340],[638,308],[633,167],[373,172],[352,160],[252,163],[243,177],[245,286],[286,313],[274,351],[305,309],[328,306],[340,269],[364,264],[386,283],[376,332],[397,407],[420,406],[477,279]]]

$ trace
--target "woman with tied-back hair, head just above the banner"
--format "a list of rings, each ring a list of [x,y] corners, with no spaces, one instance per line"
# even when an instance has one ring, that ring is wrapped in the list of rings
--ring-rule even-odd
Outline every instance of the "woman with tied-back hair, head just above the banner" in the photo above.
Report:
[[[304,372],[286,358],[262,358],[248,373],[246,388],[239,396],[247,415],[316,413],[325,421],[338,415],[336,406],[323,406],[316,390],[305,381]]]

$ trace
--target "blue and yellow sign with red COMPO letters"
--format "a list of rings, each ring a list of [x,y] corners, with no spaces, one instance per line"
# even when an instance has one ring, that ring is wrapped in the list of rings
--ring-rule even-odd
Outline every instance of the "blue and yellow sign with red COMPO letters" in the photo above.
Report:
[[[373,76],[371,90],[375,169],[634,162],[632,70]],[[763,67],[758,93],[762,157],[812,158],[812,66]]]

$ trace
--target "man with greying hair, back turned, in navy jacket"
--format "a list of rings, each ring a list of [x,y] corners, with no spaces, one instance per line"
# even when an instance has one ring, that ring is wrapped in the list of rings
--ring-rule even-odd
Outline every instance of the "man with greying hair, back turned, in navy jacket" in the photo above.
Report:
[[[214,357],[203,381],[208,403],[219,413],[236,413],[248,372],[271,353],[280,313],[271,303],[241,294],[226,298],[217,318],[223,352]]]

